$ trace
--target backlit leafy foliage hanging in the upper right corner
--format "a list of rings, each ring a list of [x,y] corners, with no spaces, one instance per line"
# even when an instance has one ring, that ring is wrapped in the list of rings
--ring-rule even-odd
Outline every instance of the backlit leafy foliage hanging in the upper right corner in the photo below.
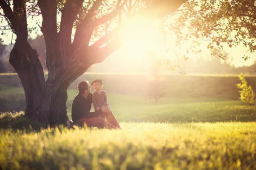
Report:
[[[177,17],[180,24],[172,26],[172,30],[197,44],[199,38],[208,39],[212,55],[224,57],[220,54],[224,43],[229,47],[243,45],[251,53],[256,51],[255,0],[189,0],[181,11]],[[180,28],[187,31],[181,32]]]

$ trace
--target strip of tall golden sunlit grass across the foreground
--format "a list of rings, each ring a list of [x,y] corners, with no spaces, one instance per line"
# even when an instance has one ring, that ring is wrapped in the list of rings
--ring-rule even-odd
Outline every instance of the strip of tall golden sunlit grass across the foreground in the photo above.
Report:
[[[121,126],[40,133],[1,129],[0,169],[256,169],[256,122]]]

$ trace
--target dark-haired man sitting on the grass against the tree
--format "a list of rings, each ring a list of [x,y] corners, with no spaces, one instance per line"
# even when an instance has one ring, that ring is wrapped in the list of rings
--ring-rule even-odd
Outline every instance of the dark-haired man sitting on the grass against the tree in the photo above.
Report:
[[[78,85],[79,93],[72,103],[71,116],[74,123],[86,123],[91,127],[116,128],[105,121],[101,115],[109,111],[109,108],[102,106],[100,110],[90,112],[92,108],[91,86],[88,81],[81,81]]]

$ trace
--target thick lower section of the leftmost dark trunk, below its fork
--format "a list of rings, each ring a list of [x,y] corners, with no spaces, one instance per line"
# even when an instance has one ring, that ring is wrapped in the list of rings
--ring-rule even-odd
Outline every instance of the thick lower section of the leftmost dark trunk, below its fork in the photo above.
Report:
[[[10,53],[9,62],[22,81],[26,97],[25,115],[35,119],[42,101],[44,72],[37,52],[30,47],[29,43],[26,46],[24,49],[15,43]]]

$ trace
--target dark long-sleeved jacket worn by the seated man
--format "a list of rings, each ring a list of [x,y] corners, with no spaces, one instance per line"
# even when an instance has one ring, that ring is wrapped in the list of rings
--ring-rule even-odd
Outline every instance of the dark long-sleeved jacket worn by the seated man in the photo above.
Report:
[[[89,93],[86,98],[84,98],[82,94],[78,94],[77,96],[75,96],[71,110],[71,116],[74,123],[81,118],[88,119],[92,117],[97,117],[102,113],[101,110],[90,112],[92,108],[92,96],[92,93]]]

